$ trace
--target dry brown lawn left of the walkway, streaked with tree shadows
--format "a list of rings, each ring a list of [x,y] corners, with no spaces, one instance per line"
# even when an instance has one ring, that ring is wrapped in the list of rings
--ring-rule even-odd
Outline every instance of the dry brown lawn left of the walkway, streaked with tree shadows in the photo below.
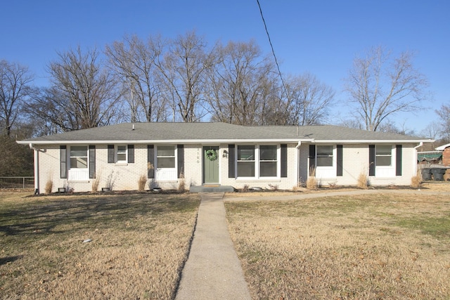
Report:
[[[0,298],[174,295],[198,196],[20,196],[0,194]]]

